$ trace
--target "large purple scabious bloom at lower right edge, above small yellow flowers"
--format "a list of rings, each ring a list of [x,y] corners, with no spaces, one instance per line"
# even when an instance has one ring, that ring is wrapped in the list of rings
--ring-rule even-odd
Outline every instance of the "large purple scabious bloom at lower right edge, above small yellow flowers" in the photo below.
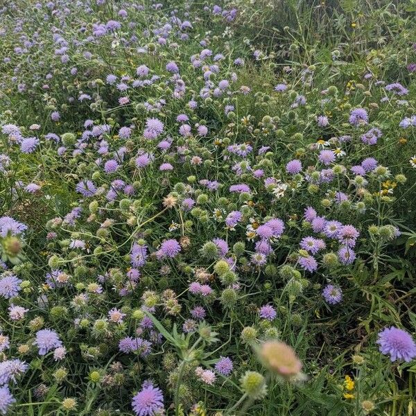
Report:
[[[390,360],[410,363],[416,357],[416,344],[410,333],[396,327],[385,328],[379,332],[376,343],[382,354],[390,355]]]

